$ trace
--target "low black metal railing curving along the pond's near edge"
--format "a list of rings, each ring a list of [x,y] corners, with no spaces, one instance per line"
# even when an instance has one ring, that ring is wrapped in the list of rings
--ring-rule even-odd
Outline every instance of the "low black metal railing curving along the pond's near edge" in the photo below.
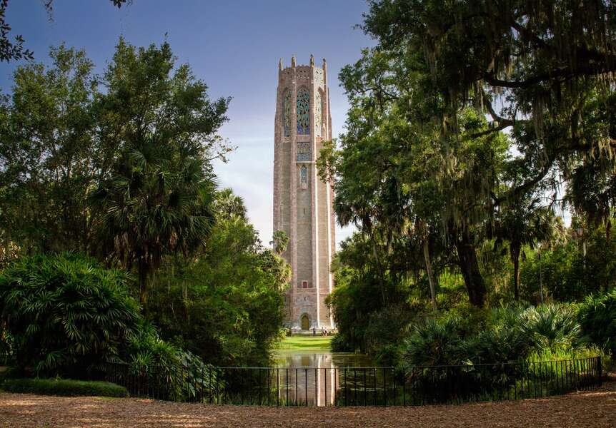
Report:
[[[602,383],[600,357],[427,367],[106,367],[131,396],[267,406],[409,406],[539,398]]]

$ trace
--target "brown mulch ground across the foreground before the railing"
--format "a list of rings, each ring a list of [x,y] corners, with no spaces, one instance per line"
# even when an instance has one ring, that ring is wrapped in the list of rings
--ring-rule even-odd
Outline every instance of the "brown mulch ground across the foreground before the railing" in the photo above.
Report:
[[[561,397],[424,407],[212,406],[0,393],[0,427],[616,427],[616,382]]]

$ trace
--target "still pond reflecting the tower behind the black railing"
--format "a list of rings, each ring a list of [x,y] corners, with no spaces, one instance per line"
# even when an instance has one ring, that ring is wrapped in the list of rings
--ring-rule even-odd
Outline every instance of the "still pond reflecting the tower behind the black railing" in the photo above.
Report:
[[[274,357],[279,399],[282,402],[317,406],[335,402],[341,382],[348,377],[369,376],[372,371],[349,367],[372,367],[374,362],[363,354],[329,351],[284,351]],[[368,374],[367,374],[368,373]]]

